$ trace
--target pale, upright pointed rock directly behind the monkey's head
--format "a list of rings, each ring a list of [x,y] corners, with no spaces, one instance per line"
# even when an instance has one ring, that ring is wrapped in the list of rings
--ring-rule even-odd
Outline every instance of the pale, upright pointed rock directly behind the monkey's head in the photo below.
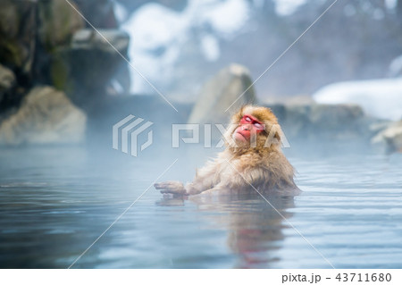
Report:
[[[219,71],[202,88],[188,123],[229,122],[229,114],[239,109],[239,106],[255,103],[254,88],[249,88],[252,82],[250,72],[242,65],[231,64]]]

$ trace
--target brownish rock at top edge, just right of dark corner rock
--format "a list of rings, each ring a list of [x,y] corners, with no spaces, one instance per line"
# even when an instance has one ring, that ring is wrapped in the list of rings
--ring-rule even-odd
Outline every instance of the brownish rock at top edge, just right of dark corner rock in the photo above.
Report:
[[[74,1],[70,3],[78,8]],[[47,52],[70,44],[74,32],[85,27],[80,14],[65,0],[39,1],[38,8],[38,35]]]

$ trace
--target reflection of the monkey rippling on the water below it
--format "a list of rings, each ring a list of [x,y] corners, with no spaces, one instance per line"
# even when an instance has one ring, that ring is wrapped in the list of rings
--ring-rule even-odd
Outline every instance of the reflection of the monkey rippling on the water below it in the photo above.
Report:
[[[227,245],[239,256],[237,268],[270,268],[279,257],[274,252],[285,239],[282,229],[288,227],[283,217],[292,216],[286,210],[294,207],[293,197],[255,195],[189,197],[198,210],[207,212],[213,226],[227,229]],[[158,205],[180,206],[184,200],[164,197]],[[281,214],[279,214],[280,212]]]

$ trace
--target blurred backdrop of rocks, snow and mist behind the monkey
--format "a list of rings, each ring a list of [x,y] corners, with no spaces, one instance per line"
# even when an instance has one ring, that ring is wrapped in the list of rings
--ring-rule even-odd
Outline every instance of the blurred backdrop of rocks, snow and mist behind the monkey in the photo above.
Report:
[[[1,0],[0,8],[2,146],[92,138],[110,146],[111,126],[130,113],[160,122],[160,133],[166,122],[227,122],[227,108],[255,102],[271,106],[296,141],[401,149],[402,1]]]

